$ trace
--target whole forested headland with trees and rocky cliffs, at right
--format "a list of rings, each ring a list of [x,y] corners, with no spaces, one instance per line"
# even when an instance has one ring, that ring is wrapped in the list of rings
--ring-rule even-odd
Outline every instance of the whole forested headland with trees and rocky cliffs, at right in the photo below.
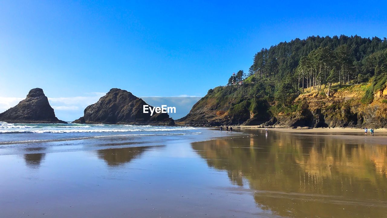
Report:
[[[231,74],[231,73],[230,73]],[[387,39],[310,36],[262,48],[210,89],[191,125],[387,127]]]

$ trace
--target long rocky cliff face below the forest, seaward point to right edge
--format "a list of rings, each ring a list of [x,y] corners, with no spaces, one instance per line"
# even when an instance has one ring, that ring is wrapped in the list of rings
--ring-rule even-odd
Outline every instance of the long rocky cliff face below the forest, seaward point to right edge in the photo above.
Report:
[[[249,97],[241,91],[225,95],[217,87],[197,102],[178,124],[192,126],[262,125],[274,128],[352,127],[387,128],[387,87],[372,103],[362,102],[367,85],[355,85],[299,95],[290,111],[276,111],[275,102]],[[228,88],[229,89],[229,88]],[[229,92],[229,91],[228,91]]]

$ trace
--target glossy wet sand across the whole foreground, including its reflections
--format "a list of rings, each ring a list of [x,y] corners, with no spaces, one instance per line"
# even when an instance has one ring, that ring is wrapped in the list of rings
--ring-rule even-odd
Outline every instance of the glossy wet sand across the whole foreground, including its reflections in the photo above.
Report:
[[[1,155],[0,217],[387,217],[387,133],[208,131]]]

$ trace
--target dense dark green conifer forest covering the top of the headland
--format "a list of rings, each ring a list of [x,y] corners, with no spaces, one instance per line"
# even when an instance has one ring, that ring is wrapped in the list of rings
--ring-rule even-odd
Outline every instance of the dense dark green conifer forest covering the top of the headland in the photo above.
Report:
[[[239,71],[236,81],[245,79]],[[237,75],[238,75],[237,74]],[[249,81],[272,95],[278,105],[286,106],[305,89],[322,90],[333,83],[350,85],[369,81],[365,102],[387,82],[387,39],[360,36],[310,36],[262,48],[253,57],[246,75]],[[228,85],[231,78],[229,79]]]

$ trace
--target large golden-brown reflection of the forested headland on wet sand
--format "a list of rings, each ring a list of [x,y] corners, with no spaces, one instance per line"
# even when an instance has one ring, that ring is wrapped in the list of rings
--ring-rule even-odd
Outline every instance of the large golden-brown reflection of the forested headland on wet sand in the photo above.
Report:
[[[252,189],[257,205],[282,216],[382,217],[387,212],[387,147],[339,137],[272,131],[192,143],[210,167]],[[243,182],[248,182],[243,184]]]

